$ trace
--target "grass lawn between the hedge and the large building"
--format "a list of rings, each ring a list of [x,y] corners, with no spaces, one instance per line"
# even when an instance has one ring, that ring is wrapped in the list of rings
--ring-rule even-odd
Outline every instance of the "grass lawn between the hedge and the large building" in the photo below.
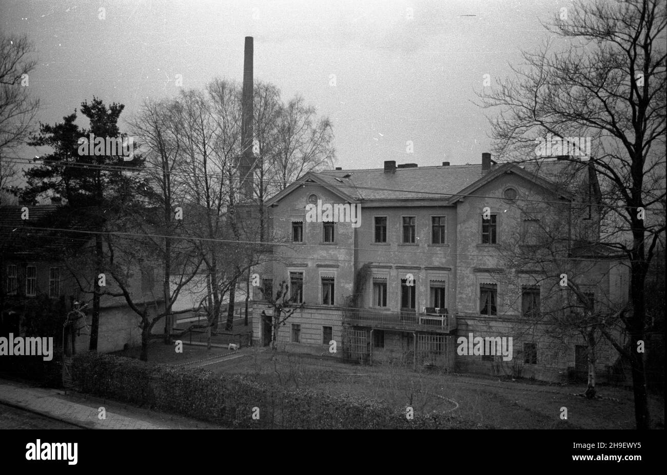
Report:
[[[137,348],[123,356],[138,357]],[[416,412],[454,411],[454,414],[497,428],[622,428],[632,429],[632,390],[598,385],[598,396],[587,400],[578,394],[585,384],[548,384],[528,380],[498,380],[483,374],[443,374],[414,371],[399,366],[347,364],[329,356],[279,352],[273,360],[267,348],[242,348],[231,354],[227,348],[153,342],[149,361],[179,366],[203,367],[215,374],[251,374],[288,388],[306,387],[328,394],[350,394],[384,400]],[[664,425],[664,396],[651,395],[650,414],[655,427]],[[560,408],[568,410],[560,419]]]

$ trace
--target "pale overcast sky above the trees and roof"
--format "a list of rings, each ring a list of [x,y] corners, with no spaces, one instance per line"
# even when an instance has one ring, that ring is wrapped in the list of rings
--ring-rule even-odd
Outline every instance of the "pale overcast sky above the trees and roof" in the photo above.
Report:
[[[121,131],[144,99],[175,96],[177,75],[185,89],[240,82],[252,36],[255,79],[329,117],[336,166],[359,169],[481,163],[497,113],[478,105],[485,75],[486,88],[513,77],[510,65],[549,39],[541,22],[563,7],[572,3],[0,0],[0,25],[35,45],[39,121],[61,121],[95,96],[125,105]]]

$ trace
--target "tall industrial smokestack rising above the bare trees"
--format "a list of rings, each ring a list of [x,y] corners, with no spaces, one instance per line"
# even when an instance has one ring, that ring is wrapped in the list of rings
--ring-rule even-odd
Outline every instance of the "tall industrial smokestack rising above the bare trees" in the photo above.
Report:
[[[245,199],[253,198],[253,163],[255,161],[252,153],[253,142],[253,38],[245,37],[245,50],[243,55],[243,98],[241,107],[241,145],[243,146],[243,158],[239,166],[239,179]]]

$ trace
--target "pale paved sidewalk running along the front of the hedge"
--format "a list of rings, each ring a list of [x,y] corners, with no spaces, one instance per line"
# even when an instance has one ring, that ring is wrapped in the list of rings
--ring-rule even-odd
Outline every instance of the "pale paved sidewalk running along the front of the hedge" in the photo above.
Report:
[[[89,429],[220,428],[197,420],[162,414],[68,391],[35,388],[0,379],[0,403]],[[106,418],[98,418],[104,407]]]

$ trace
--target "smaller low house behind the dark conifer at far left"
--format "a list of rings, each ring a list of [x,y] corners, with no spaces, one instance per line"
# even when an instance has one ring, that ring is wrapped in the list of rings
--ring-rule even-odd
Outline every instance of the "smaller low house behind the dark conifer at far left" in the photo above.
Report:
[[[81,287],[91,286],[94,276],[80,268],[75,256],[85,248],[93,235],[85,233],[81,225],[61,231],[57,223],[63,220],[67,208],[59,203],[49,205],[18,205],[0,207],[0,334],[25,334],[31,315],[40,310],[70,312],[75,302],[86,304],[86,324],[83,322],[76,339],[77,350],[87,350],[91,323],[92,294]],[[77,231],[81,231],[80,233]],[[140,302],[155,302],[149,295],[160,295],[155,290],[151,269],[139,269],[131,282],[133,294],[140,293]],[[159,282],[158,282],[159,283]],[[111,275],[105,276],[109,291],[118,292]],[[143,300],[143,301],[142,301]],[[49,330],[55,346],[61,346],[63,332]],[[97,349],[101,352],[121,350],[141,341],[139,318],[125,302],[125,298],[103,294],[100,299],[100,318]]]

